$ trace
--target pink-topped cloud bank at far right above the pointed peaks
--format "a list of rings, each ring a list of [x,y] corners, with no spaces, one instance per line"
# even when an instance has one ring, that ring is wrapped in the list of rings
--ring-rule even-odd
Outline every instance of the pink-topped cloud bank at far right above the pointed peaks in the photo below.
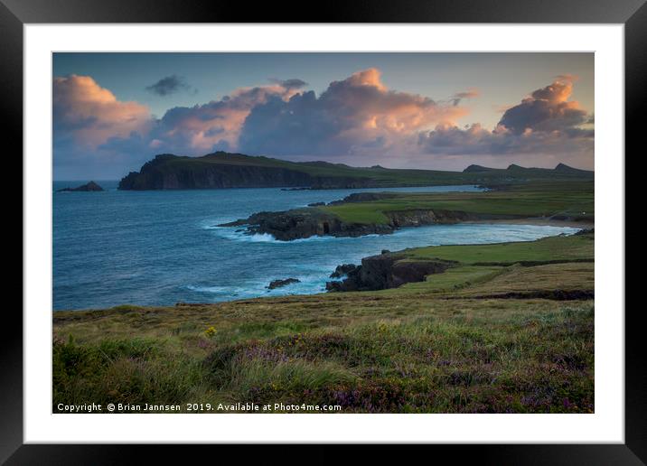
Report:
[[[418,144],[428,154],[592,154],[594,131],[582,127],[592,116],[568,100],[573,79],[561,78],[505,110],[492,131],[439,125],[419,135]]]

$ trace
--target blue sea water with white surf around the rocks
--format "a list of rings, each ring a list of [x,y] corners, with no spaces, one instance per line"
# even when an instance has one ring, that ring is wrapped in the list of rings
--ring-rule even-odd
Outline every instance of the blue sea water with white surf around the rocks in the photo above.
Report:
[[[53,190],[83,182],[54,182]],[[117,304],[212,303],[256,296],[314,294],[335,266],[382,249],[525,241],[577,228],[458,224],[403,228],[393,235],[315,237],[290,242],[247,236],[218,224],[261,210],[286,210],[375,190],[53,192],[53,308]],[[474,186],[389,191],[478,191]],[[268,291],[271,280],[301,283]]]

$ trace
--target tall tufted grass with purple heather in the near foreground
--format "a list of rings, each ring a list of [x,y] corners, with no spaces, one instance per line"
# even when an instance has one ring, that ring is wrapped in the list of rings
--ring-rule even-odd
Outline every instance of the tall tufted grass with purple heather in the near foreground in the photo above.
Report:
[[[507,315],[506,315],[507,314]],[[58,403],[292,403],[343,412],[591,412],[590,303],[535,312],[456,312],[362,320],[214,341],[54,341]],[[270,327],[262,327],[265,330]],[[206,337],[202,337],[206,338]],[[198,340],[204,341],[204,340]]]

